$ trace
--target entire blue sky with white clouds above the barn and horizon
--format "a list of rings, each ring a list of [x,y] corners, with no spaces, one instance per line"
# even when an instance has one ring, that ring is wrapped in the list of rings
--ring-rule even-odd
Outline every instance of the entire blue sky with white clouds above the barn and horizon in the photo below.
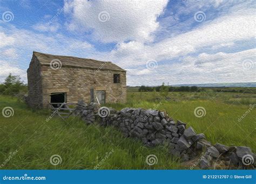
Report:
[[[256,82],[256,1],[0,0],[0,82],[32,52],[112,61],[127,85]]]

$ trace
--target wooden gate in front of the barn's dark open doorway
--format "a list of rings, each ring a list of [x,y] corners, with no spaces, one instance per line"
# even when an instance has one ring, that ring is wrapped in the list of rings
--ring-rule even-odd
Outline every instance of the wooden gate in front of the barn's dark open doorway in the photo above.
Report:
[[[52,114],[57,114],[62,119],[70,117],[75,111],[76,106],[76,103],[49,103],[49,108],[52,110]]]

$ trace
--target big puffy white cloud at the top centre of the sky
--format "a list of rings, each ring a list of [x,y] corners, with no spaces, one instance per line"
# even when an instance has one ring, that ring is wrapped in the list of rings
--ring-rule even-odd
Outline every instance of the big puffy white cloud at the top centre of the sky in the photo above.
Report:
[[[64,11],[72,17],[69,30],[90,31],[104,42],[152,40],[151,33],[159,27],[157,17],[163,13],[167,0],[157,1],[66,1]],[[107,21],[100,21],[99,13]],[[104,17],[103,17],[104,18]]]

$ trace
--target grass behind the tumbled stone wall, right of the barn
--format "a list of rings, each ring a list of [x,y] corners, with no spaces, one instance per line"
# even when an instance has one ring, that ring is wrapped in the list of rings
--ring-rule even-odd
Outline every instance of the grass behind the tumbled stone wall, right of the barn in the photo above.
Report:
[[[233,97],[236,100],[233,100]],[[256,96],[240,93],[169,93],[166,101],[160,93],[130,92],[127,104],[108,104],[113,108],[124,107],[154,109],[157,104],[159,110],[166,112],[174,120],[181,120],[192,126],[198,133],[205,133],[207,140],[225,145],[250,146],[256,152],[256,108],[252,109],[242,121],[241,117],[250,108],[249,104],[256,104]],[[240,103],[240,99],[247,103]],[[205,116],[198,118],[194,109],[203,107]]]

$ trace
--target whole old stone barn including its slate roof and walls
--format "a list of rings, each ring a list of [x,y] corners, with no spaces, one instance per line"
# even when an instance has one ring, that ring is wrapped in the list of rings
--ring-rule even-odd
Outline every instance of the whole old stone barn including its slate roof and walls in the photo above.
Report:
[[[27,70],[28,104],[126,102],[126,70],[110,61],[33,52]]]

